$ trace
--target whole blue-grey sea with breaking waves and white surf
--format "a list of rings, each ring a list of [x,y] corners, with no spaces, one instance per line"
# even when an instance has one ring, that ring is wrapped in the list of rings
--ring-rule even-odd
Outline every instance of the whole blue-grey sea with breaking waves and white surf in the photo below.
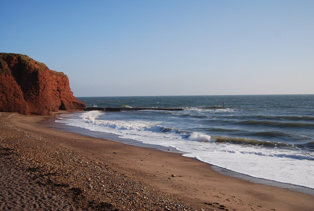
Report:
[[[314,188],[314,95],[78,98],[87,106],[182,111],[85,111],[56,122],[173,147],[256,178]],[[223,102],[224,108],[223,108]]]

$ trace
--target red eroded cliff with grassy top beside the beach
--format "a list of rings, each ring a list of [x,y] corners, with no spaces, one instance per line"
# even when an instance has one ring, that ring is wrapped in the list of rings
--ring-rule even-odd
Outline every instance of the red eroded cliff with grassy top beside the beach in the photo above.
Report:
[[[52,111],[84,110],[69,79],[27,55],[0,53],[0,111],[52,115]]]

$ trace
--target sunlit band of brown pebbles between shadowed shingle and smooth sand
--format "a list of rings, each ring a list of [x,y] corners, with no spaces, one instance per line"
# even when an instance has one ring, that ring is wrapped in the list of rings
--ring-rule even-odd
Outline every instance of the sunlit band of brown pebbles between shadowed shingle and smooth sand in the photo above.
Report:
[[[110,210],[120,211],[196,210],[176,196],[153,189],[140,179],[126,179],[124,174],[116,171],[120,166],[112,165],[111,160],[98,158],[99,161],[94,162],[94,158],[84,158],[75,150],[58,145],[60,140],[57,138],[18,130],[2,121],[2,117],[1,114],[0,148],[14,148],[15,161],[23,163],[25,169],[34,169],[34,172],[27,171],[25,175],[29,175],[34,184],[42,184],[38,188],[51,188],[52,192],[78,207],[77,210],[97,210],[97,206],[105,204]],[[175,174],[171,176],[176,177]]]

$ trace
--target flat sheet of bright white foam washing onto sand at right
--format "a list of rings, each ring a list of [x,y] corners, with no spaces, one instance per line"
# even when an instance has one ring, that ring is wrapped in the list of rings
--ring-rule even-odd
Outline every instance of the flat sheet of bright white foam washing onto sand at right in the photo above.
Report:
[[[237,148],[231,150],[230,148]],[[229,150],[189,150],[179,149],[189,154],[185,157],[197,158],[201,161],[223,167],[235,172],[257,178],[282,183],[314,188],[313,161],[308,159],[278,158],[272,152],[261,152],[265,149],[248,149],[244,151],[238,146],[225,146]],[[280,152],[284,153],[284,152]],[[287,156],[290,152],[287,152]]]

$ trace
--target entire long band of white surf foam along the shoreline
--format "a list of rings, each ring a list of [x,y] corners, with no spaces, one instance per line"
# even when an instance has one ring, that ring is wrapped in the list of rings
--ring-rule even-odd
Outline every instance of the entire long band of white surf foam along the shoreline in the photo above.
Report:
[[[102,120],[101,111],[62,114],[56,122],[109,132],[146,144],[174,147],[183,156],[257,178],[314,188],[314,153],[265,148],[254,145],[217,143],[207,134],[178,132],[160,122]],[[213,140],[212,140],[213,139]]]

